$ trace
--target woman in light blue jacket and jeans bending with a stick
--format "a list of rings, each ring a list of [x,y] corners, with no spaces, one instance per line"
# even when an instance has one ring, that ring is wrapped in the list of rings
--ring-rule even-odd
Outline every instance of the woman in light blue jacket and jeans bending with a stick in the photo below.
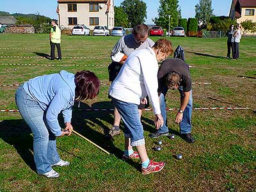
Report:
[[[76,75],[62,70],[58,74],[35,77],[22,84],[15,95],[20,115],[33,132],[36,172],[45,177],[59,177],[52,166],[67,166],[56,149],[56,137],[70,136],[72,106],[75,100],[93,99],[99,93],[99,79],[83,70]],[[58,115],[62,112],[65,131]]]

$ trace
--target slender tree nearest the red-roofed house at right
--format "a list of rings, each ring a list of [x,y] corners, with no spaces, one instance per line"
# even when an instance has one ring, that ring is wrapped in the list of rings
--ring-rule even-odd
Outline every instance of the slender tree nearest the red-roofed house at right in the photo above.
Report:
[[[195,5],[195,12],[199,28],[206,29],[210,18],[213,16],[212,0],[199,0],[199,4]]]

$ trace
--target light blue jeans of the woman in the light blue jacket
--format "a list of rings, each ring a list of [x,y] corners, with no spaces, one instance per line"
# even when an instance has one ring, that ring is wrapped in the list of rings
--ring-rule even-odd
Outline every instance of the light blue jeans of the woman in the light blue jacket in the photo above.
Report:
[[[36,172],[44,174],[52,170],[51,164],[58,163],[60,156],[56,148],[56,137],[47,128],[45,111],[23,89],[18,88],[15,100],[20,115],[33,133],[33,152]]]

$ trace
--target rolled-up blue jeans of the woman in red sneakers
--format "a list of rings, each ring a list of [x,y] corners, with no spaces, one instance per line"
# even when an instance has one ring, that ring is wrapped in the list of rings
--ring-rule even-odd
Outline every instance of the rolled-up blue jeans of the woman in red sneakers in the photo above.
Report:
[[[138,105],[124,102],[113,97],[111,97],[111,99],[124,122],[125,138],[131,138],[132,146],[145,144]]]

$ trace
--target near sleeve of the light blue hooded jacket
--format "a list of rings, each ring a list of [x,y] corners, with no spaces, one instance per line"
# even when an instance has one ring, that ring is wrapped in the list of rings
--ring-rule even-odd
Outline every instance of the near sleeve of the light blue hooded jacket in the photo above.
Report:
[[[58,122],[58,115],[63,109],[65,109],[69,101],[70,100],[67,98],[67,93],[65,90],[58,90],[46,111],[47,125],[55,136],[61,135],[61,127]]]

